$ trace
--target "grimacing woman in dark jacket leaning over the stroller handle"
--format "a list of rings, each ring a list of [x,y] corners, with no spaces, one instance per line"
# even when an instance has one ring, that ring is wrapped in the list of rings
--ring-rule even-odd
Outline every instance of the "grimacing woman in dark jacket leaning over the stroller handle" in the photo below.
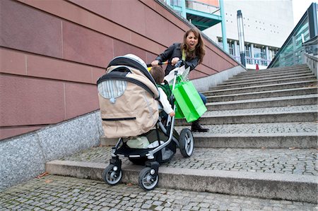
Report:
[[[190,71],[201,64],[204,55],[204,41],[202,40],[199,30],[192,28],[185,32],[182,43],[174,43],[168,47],[165,52],[160,54],[155,61],[151,62],[152,66],[158,66],[159,62],[168,61],[165,69],[165,76],[169,74],[175,67],[179,60],[185,65],[185,68],[190,67]],[[206,97],[199,93],[202,101],[206,104]],[[199,119],[192,122],[191,130],[194,132],[207,132],[208,129],[203,128],[199,124]]]

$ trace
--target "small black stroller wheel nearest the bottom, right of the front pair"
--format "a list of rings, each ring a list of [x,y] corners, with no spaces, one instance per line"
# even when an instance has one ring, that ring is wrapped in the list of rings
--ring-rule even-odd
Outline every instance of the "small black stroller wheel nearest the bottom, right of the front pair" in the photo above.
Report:
[[[158,185],[159,175],[154,176],[154,171],[155,170],[151,169],[151,167],[146,167],[140,171],[138,182],[143,190],[150,191]]]

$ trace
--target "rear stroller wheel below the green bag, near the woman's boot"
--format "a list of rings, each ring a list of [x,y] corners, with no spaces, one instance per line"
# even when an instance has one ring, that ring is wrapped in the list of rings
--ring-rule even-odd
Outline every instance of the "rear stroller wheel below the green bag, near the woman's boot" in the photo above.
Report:
[[[192,132],[188,128],[182,129],[179,135],[179,148],[183,157],[190,157],[194,149]]]

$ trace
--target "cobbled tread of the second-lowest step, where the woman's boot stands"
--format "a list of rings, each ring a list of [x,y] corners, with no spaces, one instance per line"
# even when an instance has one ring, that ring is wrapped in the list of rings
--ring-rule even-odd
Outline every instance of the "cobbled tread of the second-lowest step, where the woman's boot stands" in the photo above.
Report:
[[[318,124],[314,122],[290,122],[290,123],[240,123],[240,124],[216,124],[206,125],[208,133],[194,133],[203,136],[217,134],[267,134],[275,135],[292,135],[293,133],[302,133],[302,135],[317,135]],[[181,131],[184,126],[176,127],[177,131]],[[190,128],[190,126],[187,126]],[[288,133],[288,134],[286,134]]]

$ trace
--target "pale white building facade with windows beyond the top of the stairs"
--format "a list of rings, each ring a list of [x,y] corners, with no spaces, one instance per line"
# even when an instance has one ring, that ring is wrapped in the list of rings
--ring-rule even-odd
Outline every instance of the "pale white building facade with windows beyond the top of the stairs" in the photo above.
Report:
[[[286,1],[223,0],[228,53],[240,61],[237,11],[242,11],[246,67],[266,68],[293,30],[293,4]],[[211,40],[223,43],[221,25],[203,31]]]

